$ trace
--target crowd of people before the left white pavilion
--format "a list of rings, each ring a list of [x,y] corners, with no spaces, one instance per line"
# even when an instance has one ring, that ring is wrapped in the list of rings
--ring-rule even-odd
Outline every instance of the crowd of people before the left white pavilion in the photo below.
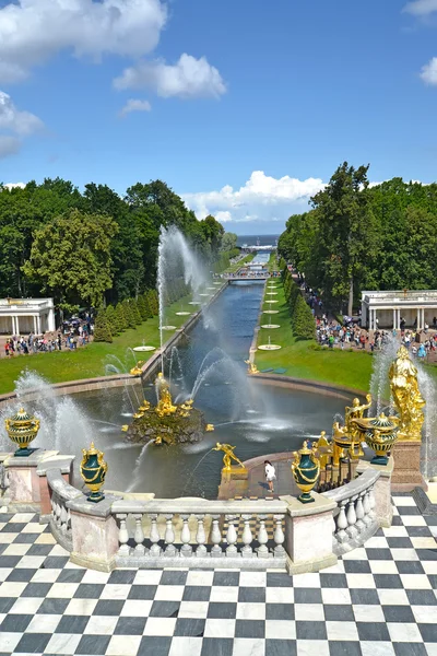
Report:
[[[75,350],[90,342],[94,326],[91,320],[78,320],[66,323],[57,333],[44,333],[40,336],[31,332],[27,338],[13,336],[4,342],[5,358],[14,355],[28,355],[32,353],[47,353],[62,351],[62,349]]]

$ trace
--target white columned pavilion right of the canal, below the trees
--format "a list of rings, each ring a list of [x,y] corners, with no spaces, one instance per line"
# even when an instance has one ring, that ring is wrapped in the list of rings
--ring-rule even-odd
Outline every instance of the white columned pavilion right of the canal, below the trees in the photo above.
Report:
[[[423,330],[425,324],[433,325],[434,317],[437,317],[436,290],[362,292],[362,326],[370,330],[399,330],[401,318],[406,327]]]

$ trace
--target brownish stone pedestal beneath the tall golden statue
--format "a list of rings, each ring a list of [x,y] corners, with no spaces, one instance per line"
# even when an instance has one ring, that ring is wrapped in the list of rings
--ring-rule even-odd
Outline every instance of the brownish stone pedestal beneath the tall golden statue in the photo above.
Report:
[[[414,488],[427,490],[421,473],[422,442],[399,441],[393,448],[394,470],[391,477],[393,492],[411,492]]]

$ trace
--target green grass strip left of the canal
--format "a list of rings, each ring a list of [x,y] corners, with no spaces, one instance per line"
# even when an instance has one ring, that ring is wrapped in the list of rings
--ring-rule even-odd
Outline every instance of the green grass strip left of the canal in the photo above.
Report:
[[[220,288],[217,288],[220,289]],[[177,316],[176,312],[194,313],[197,305],[189,305],[190,297],[185,297],[174,303],[166,309],[165,321],[167,325],[180,328],[188,316]],[[164,339],[172,337],[173,331],[164,331]],[[49,383],[67,383],[68,380],[80,380],[83,378],[95,378],[105,375],[105,364],[108,355],[116,355],[126,363],[127,368],[134,364],[132,355],[127,354],[127,349],[141,347],[142,344],[158,347],[160,331],[158,318],[147,319],[138,326],[135,330],[129,329],[114,338],[113,343],[92,342],[78,348],[75,351],[63,349],[51,353],[38,353],[35,355],[17,355],[10,360],[0,361],[0,394],[12,391],[23,370],[29,368],[45,376]],[[137,360],[146,361],[153,355],[151,353],[135,353]]]

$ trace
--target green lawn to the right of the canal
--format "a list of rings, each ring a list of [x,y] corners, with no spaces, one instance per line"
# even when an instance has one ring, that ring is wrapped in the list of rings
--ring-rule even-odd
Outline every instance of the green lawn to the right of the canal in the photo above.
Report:
[[[282,282],[277,279],[276,289],[279,303],[271,305],[271,309],[279,309],[279,314],[263,314],[262,324],[280,324],[281,328],[260,328],[258,344],[276,343],[282,347],[279,351],[257,351],[255,362],[260,371],[264,368],[285,368],[284,375],[294,378],[322,380],[336,385],[344,385],[367,391],[369,388],[373,356],[368,351],[352,351],[339,349],[318,349],[315,340],[297,340],[293,337],[288,308],[285,303]],[[268,290],[267,290],[268,291]],[[265,296],[268,298],[269,296]],[[263,309],[269,309],[268,303]],[[316,347],[316,349],[315,349]],[[437,367],[427,366],[429,373],[437,377]]]

